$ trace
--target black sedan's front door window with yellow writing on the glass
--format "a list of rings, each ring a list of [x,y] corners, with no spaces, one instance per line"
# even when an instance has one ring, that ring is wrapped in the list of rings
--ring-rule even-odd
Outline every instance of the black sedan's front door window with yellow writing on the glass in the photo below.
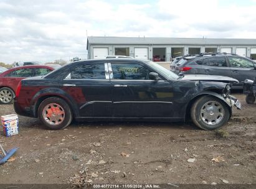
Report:
[[[111,63],[113,80],[149,80],[149,70],[137,63]]]

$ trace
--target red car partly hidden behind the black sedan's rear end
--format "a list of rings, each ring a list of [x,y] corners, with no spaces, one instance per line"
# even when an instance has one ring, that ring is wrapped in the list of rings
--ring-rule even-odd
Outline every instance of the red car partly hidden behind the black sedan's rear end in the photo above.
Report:
[[[19,81],[32,76],[46,75],[54,68],[46,65],[30,65],[6,70],[0,74],[0,103],[11,104]]]

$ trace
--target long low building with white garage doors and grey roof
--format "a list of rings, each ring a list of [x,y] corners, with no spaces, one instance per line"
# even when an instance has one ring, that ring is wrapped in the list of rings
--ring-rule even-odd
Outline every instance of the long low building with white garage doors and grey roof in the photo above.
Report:
[[[161,61],[202,52],[236,53],[256,60],[256,39],[205,39],[171,37],[88,37],[88,59],[125,55]],[[156,60],[156,59],[155,59]]]

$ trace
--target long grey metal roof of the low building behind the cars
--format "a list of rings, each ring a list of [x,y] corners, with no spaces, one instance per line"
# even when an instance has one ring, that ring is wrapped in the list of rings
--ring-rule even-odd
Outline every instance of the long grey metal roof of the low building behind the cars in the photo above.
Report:
[[[256,39],[208,39],[173,37],[88,37],[88,44],[159,44],[159,45],[256,45]]]

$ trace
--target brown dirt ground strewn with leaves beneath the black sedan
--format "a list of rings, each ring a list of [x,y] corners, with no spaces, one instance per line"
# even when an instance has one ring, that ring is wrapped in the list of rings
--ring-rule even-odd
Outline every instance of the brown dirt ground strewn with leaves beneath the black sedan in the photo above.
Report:
[[[234,96],[242,111],[234,109],[219,132],[190,122],[73,122],[49,131],[19,116],[18,135],[0,128],[4,148],[19,147],[15,160],[0,165],[0,183],[255,183],[256,104]],[[11,113],[12,105],[0,105],[0,115]]]

